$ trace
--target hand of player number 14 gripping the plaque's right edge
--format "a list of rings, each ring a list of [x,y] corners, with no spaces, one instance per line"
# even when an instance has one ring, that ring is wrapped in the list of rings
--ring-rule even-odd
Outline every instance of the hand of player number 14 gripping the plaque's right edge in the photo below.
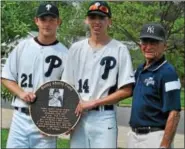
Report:
[[[80,101],[75,110],[75,114],[76,116],[79,116],[84,110],[89,110],[94,107],[96,107],[96,100]]]

